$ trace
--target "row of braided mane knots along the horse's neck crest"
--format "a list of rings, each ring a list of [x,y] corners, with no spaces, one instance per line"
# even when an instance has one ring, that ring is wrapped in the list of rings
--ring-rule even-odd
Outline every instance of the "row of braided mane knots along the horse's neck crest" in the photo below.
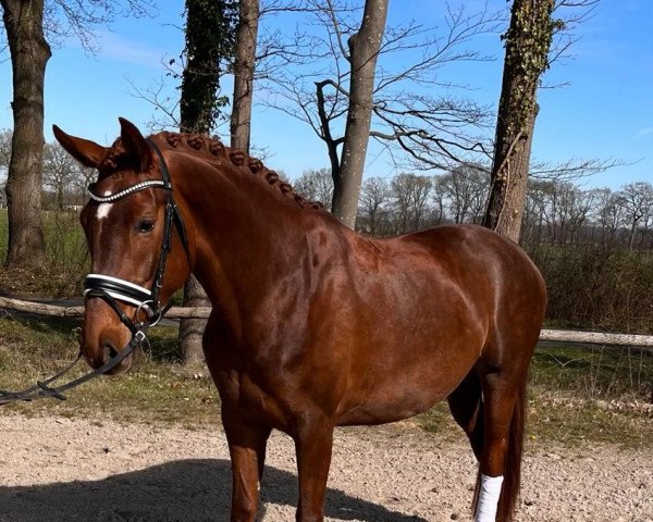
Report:
[[[159,133],[151,137],[161,139],[173,149],[176,149],[180,146],[188,147],[198,152],[204,152],[207,157],[221,158],[231,161],[234,166],[247,169],[256,177],[266,182],[283,197],[295,201],[299,207],[324,210],[324,206],[321,202],[310,201],[297,194],[291,184],[281,179],[275,171],[264,166],[260,160],[247,156],[243,150],[225,147],[222,141],[217,138],[210,138],[200,134],[169,132]]]

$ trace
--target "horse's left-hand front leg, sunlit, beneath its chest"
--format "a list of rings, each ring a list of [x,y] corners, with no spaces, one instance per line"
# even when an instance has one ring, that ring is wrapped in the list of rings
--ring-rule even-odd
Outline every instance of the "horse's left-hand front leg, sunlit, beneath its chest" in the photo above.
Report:
[[[222,424],[232,461],[231,522],[254,522],[271,428],[245,421],[224,406]]]

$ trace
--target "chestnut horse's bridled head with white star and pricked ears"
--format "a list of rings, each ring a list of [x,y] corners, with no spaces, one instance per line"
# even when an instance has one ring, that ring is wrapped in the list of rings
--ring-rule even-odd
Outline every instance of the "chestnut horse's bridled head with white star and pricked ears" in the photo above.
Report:
[[[53,127],[71,156],[98,170],[81,214],[91,259],[81,347],[93,368],[118,355],[140,325],[157,321],[190,272],[163,158],[132,123],[120,123],[121,136],[109,148]],[[130,355],[109,373],[131,364]]]

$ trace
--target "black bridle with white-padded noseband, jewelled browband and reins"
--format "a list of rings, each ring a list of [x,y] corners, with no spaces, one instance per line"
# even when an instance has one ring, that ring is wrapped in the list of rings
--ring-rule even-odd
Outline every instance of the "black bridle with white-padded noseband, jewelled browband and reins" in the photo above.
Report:
[[[186,228],[184,227],[180,209],[174,202],[168,165],[165,164],[165,160],[163,159],[159,148],[151,140],[148,140],[148,142],[159,159],[161,179],[146,179],[108,196],[98,196],[95,194],[95,184],[91,184],[88,187],[90,199],[98,203],[114,202],[147,188],[160,188],[167,191],[161,253],[159,254],[159,262],[157,263],[157,271],[155,272],[155,278],[151,288],[144,288],[128,281],[103,274],[89,274],[84,279],[85,299],[99,298],[107,302],[107,304],[109,304],[109,307],[111,307],[111,309],[118,314],[121,322],[130,330],[132,333],[132,339],[122,350],[111,357],[100,368],[97,368],[85,375],[82,375],[81,377],[64,383],[60,386],[51,386],[52,383],[72,370],[77,361],[82,359],[82,349],[79,349],[77,358],[69,366],[56,375],[52,375],[45,381],[38,381],[34,386],[20,391],[8,391],[0,389],[0,406],[14,401],[30,401],[42,397],[54,397],[60,400],[65,400],[65,396],[63,395],[64,391],[78,386],[86,381],[97,377],[98,375],[102,375],[111,371],[124,359],[126,359],[146,339],[147,330],[150,326],[155,326],[170,308],[170,304],[161,306],[160,293],[163,286],[168,254],[172,249],[172,235],[174,228],[177,231],[180,240],[184,247],[184,251],[186,252],[186,259],[189,266],[193,264],[190,260],[190,251],[188,249]],[[126,302],[127,304],[136,308],[134,318],[130,318],[125,313],[123,308],[120,306],[120,302]],[[146,314],[146,320],[139,320],[139,316],[141,315],[140,312]]]

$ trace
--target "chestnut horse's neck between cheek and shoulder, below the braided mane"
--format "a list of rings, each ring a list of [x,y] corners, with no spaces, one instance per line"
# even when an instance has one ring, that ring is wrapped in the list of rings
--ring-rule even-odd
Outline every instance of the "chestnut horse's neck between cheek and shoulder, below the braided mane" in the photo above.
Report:
[[[194,273],[213,306],[260,298],[274,278],[294,270],[297,259],[287,251],[300,241],[294,228],[310,211],[233,167],[197,170],[181,188],[196,234]]]

